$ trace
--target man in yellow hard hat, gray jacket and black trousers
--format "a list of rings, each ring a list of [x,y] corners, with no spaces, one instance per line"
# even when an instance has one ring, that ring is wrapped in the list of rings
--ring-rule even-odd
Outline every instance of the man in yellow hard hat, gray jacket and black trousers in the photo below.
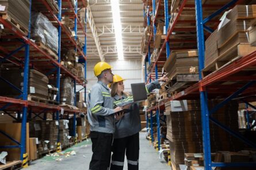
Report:
[[[121,110],[121,107],[113,109],[113,99],[107,86],[113,82],[111,68],[108,63],[103,61],[94,66],[94,75],[97,76],[98,82],[91,87],[88,94],[87,117],[93,143],[90,170],[107,170],[110,166],[115,128],[114,113]],[[119,118],[119,116],[116,117],[116,119]]]

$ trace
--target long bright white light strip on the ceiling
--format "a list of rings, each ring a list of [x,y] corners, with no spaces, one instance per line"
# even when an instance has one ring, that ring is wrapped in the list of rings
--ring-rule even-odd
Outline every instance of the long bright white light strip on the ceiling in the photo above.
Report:
[[[119,0],[111,0],[111,9],[114,22],[114,34],[116,36],[116,47],[119,60],[124,59],[123,40],[122,40],[122,26],[120,18]]]

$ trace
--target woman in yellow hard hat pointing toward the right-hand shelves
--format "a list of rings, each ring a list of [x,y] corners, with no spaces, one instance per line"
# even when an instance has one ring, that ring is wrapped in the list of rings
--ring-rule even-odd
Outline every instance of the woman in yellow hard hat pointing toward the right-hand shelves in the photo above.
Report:
[[[166,80],[168,78],[163,76],[161,79],[147,84],[147,91],[150,92],[155,88],[161,88],[159,82]],[[124,79],[121,76],[113,76],[113,83],[110,84],[110,88],[114,107],[119,107],[133,101],[132,95],[124,92]],[[123,169],[125,153],[128,169],[139,169],[139,132],[141,130],[139,105],[137,103],[128,105],[124,109],[132,111],[124,114],[124,117],[116,122],[110,170]]]

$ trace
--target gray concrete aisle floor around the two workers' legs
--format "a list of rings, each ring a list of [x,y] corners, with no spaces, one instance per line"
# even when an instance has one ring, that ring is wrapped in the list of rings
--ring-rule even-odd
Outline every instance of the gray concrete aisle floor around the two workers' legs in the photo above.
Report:
[[[51,170],[51,169],[62,169],[62,170],[87,170],[89,169],[89,163],[91,159],[91,141],[83,141],[76,146],[72,146],[64,152],[70,152],[74,150],[77,154],[70,157],[54,157],[45,156],[42,159],[33,161],[29,168],[30,170]],[[56,161],[58,158],[63,158],[62,161]],[[124,170],[127,169],[127,162],[125,160]],[[158,153],[155,151],[149,141],[145,138],[145,133],[140,133],[140,159],[139,159],[140,170],[167,170],[171,169],[167,163],[162,162],[159,159]]]

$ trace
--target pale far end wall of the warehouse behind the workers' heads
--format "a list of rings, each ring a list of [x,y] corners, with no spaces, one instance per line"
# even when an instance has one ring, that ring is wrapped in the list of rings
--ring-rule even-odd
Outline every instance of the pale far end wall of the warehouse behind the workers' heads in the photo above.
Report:
[[[87,61],[87,91],[97,82],[97,78],[94,76],[93,67],[98,61]],[[106,60],[112,65],[113,74],[118,74],[124,79],[125,91],[131,92],[131,83],[142,83],[143,82],[143,70],[141,60]],[[79,89],[81,87],[78,87]]]

